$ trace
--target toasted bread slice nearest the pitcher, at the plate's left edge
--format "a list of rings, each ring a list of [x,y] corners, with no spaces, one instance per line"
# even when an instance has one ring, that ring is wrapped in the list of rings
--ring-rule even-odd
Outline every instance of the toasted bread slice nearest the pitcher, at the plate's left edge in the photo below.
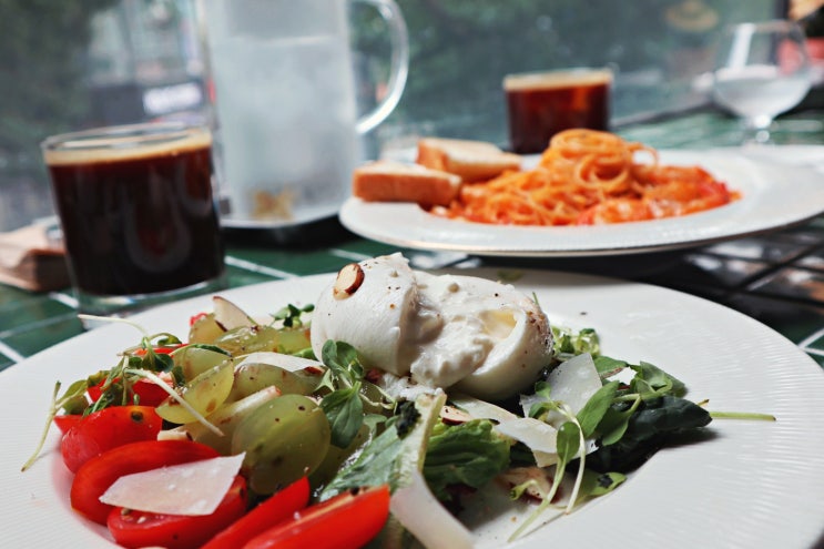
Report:
[[[440,170],[394,161],[374,161],[356,167],[352,194],[367,202],[416,202],[448,205],[460,190],[460,177]]]

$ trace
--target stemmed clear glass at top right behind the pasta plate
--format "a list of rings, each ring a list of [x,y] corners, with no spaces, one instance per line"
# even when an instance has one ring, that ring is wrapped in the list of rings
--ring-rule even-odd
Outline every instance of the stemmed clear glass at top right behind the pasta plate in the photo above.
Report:
[[[770,142],[775,116],[797,105],[812,85],[804,32],[787,20],[726,28],[713,71],[713,99],[744,119],[747,142]]]

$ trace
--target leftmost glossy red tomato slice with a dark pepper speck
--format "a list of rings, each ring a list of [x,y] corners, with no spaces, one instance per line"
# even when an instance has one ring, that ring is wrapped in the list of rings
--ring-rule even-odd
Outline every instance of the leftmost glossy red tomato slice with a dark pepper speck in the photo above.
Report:
[[[151,406],[111,406],[80,419],[60,441],[70,471],[110,448],[139,440],[154,440],[163,419]]]

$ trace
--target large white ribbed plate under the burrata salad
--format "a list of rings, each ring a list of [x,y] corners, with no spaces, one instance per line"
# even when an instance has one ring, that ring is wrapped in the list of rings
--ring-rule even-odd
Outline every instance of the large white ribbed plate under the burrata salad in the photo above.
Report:
[[[658,451],[614,491],[509,546],[510,517],[490,515],[478,530],[478,547],[608,547],[622,538],[635,548],[801,549],[821,543],[824,373],[814,360],[752,318],[685,294],[552,272],[506,275],[518,289],[535,293],[553,324],[594,328],[606,355],[660,366],[686,385],[688,399],[708,399],[712,410],[767,414],[776,420],[714,419],[702,436]],[[289,303],[314,303],[333,276],[221,295],[267,314]],[[149,332],[185,337],[191,316],[211,307],[204,296],[133,321]],[[0,373],[0,414],[12,434],[0,456],[4,546],[113,547],[102,527],[70,509],[71,477],[54,429],[35,464],[20,469],[37,446],[53,383],[111,367],[114,355],[134,342],[133,327],[113,324]]]

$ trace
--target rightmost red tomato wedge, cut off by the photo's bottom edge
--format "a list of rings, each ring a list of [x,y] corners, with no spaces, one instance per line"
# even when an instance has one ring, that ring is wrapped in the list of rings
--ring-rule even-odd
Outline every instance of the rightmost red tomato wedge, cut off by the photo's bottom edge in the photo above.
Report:
[[[389,516],[386,485],[340,494],[252,538],[243,549],[357,549]]]

